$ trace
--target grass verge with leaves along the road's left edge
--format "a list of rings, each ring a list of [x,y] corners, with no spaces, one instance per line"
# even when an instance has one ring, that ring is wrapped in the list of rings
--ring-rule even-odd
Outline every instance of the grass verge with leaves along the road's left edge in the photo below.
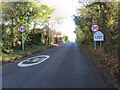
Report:
[[[10,64],[12,62],[16,62],[22,58],[25,58],[29,55],[39,53],[41,51],[44,51],[48,48],[58,46],[57,44],[49,44],[49,45],[40,45],[40,46],[32,46],[25,49],[25,51],[22,50],[15,50],[12,53],[4,54],[2,53],[2,65]]]

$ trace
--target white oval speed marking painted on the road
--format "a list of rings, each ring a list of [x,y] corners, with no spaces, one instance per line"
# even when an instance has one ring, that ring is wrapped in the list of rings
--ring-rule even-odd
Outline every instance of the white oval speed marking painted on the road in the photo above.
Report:
[[[36,64],[44,62],[49,57],[50,57],[49,55],[39,55],[39,56],[31,57],[31,58],[28,58],[28,59],[18,63],[18,66],[19,67],[28,67],[28,66],[36,65]]]

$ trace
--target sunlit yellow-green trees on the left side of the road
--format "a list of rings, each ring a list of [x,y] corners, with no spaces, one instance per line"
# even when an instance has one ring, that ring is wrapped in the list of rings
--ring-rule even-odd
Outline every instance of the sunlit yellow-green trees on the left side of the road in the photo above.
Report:
[[[45,43],[45,32],[34,27],[38,22],[43,23],[42,25],[48,22],[53,9],[47,5],[37,5],[35,2],[1,2],[1,4],[3,53],[21,49],[22,34],[25,47]],[[32,22],[34,22],[34,30],[30,30]],[[26,26],[24,33],[19,32],[20,25]]]

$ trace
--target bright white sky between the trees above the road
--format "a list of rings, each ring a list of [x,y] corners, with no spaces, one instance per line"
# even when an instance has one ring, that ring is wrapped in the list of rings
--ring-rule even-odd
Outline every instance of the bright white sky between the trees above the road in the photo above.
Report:
[[[69,40],[75,41],[75,24],[73,15],[79,7],[78,0],[43,0],[45,4],[54,7],[58,15],[63,16],[62,24],[56,25],[55,29],[67,35]]]

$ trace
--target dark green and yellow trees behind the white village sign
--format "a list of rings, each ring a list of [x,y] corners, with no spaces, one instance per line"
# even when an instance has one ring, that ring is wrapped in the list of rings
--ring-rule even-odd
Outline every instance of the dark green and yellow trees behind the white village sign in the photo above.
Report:
[[[75,16],[76,41],[93,46],[92,24],[98,24],[105,35],[103,49],[107,53],[118,56],[118,39],[120,38],[118,19],[118,3],[95,2],[80,9],[80,16]]]

